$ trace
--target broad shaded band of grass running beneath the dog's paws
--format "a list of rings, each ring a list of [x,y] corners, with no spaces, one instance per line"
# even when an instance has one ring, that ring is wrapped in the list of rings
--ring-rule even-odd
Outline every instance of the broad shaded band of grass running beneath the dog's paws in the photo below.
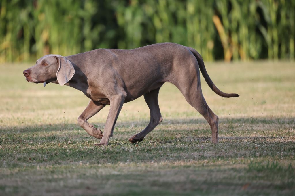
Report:
[[[285,127],[294,124],[293,119],[258,118],[254,121],[247,118],[223,119],[221,124],[241,122],[245,124],[250,122],[253,126],[256,124],[261,126],[264,122],[268,124],[281,123]],[[291,132],[288,135],[278,132],[278,135],[251,135],[248,137],[247,135],[252,131],[247,128],[239,136],[232,134],[231,131],[235,128],[229,128],[219,137],[219,144],[212,144],[209,125],[203,119],[167,120],[168,126],[166,127],[169,127],[170,124],[188,123],[201,124],[201,128],[187,130],[175,126],[176,128],[171,131],[171,128],[166,129],[162,126],[160,130],[148,134],[142,142],[132,144],[128,138],[147,124],[147,122],[137,123],[141,127],[136,131],[135,127],[130,126],[133,124],[132,122],[117,123],[118,130],[115,130],[115,137],[110,139],[109,146],[106,147],[94,146],[99,140],[82,131],[83,129],[78,124],[4,127],[0,129],[0,144],[5,146],[1,149],[0,157],[5,161],[0,161],[0,167],[4,167],[4,165],[9,167],[36,164],[62,165],[64,162],[77,163],[79,161],[90,164],[107,164],[129,161],[236,159],[237,157],[281,158],[291,156],[294,151]],[[165,123],[163,124],[165,125]],[[103,124],[98,126],[103,127]],[[281,130],[284,126],[276,126],[276,129]],[[77,132],[77,130],[81,130],[81,132]],[[282,152],[286,153],[282,154]]]

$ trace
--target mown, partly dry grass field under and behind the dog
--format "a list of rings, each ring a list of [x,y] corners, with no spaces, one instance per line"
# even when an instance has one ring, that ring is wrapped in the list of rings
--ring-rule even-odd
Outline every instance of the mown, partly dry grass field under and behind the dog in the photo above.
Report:
[[[163,122],[149,121],[143,97],[124,104],[109,146],[77,124],[89,99],[76,89],[25,81],[28,64],[1,65],[0,195],[294,195],[294,62],[205,63],[213,82],[219,144],[178,89],[159,94]],[[193,90],[193,89],[192,89]],[[109,107],[89,119],[103,131]]]

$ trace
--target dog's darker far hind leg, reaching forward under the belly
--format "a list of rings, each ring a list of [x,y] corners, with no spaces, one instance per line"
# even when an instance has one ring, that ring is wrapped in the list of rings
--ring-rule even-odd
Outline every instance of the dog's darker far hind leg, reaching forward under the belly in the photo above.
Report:
[[[163,118],[161,116],[159,104],[158,104],[158,94],[159,90],[155,89],[150,91],[149,93],[144,94],[145,102],[148,104],[148,107],[150,109],[150,122],[145,129],[142,130],[142,132],[133,135],[132,137],[129,138],[129,141],[132,143],[135,142],[141,142],[142,139],[155,127],[162,122]]]

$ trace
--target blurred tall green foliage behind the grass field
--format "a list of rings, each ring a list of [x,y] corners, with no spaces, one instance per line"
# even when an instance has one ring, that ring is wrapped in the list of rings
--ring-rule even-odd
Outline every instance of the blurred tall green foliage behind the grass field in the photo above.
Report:
[[[175,42],[205,60],[294,59],[294,0],[0,0],[0,63]]]

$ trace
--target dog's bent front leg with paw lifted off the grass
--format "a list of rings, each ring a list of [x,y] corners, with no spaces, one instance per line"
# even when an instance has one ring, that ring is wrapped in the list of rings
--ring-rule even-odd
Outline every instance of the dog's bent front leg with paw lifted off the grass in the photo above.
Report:
[[[102,132],[100,129],[96,129],[92,124],[89,124],[87,120],[91,118],[94,114],[99,112],[105,104],[101,104],[99,102],[90,101],[86,109],[82,112],[82,114],[78,118],[78,123],[80,127],[85,129],[85,131],[98,139],[102,138]]]

